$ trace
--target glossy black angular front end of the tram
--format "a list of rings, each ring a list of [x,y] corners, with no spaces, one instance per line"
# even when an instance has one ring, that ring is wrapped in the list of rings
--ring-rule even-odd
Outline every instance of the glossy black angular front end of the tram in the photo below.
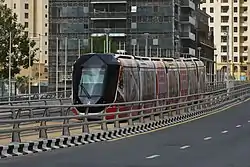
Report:
[[[120,64],[114,54],[82,55],[73,66],[73,104],[113,103]],[[105,107],[90,107],[89,113],[99,113]],[[77,107],[85,113],[85,107]]]

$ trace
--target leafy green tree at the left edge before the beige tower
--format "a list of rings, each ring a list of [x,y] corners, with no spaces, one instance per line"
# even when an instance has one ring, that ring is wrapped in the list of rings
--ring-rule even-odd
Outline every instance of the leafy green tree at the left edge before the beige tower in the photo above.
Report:
[[[35,41],[28,38],[25,27],[17,22],[17,15],[0,0],[0,78],[8,78],[9,75],[9,48],[11,46],[11,76],[15,76],[21,68],[27,69],[33,65],[35,53]],[[10,44],[11,35],[11,44]]]

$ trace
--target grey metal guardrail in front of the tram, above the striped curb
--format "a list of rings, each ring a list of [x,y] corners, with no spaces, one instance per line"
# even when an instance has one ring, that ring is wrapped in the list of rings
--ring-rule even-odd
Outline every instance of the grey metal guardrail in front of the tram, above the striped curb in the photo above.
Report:
[[[0,125],[12,125],[11,129],[0,129],[0,134],[11,134],[12,142],[21,142],[21,133],[36,132],[39,134],[38,138],[48,138],[48,131],[58,129],[62,132],[63,136],[70,136],[70,128],[82,128],[82,132],[89,133],[89,127],[91,125],[99,125],[103,131],[107,131],[108,123],[113,123],[115,128],[120,128],[121,121],[127,122],[129,126],[134,125],[135,120],[139,120],[139,123],[144,123],[145,118],[149,117],[150,120],[165,119],[171,117],[173,113],[181,115],[189,112],[196,112],[200,110],[209,111],[225,104],[237,101],[241,98],[246,98],[250,94],[250,84],[242,83],[236,84],[233,88],[223,88],[211,92],[200,93],[195,95],[171,97],[164,99],[154,99],[147,101],[116,103],[116,104],[98,104],[98,105],[34,105],[34,106],[0,106],[0,113],[8,112],[12,115],[12,119],[4,118],[0,119]],[[200,99],[189,100],[190,97],[199,96]],[[175,103],[173,103],[175,101]],[[107,113],[106,110],[103,113],[98,114],[101,118],[97,121],[89,121],[92,116],[88,113],[89,107],[100,106],[116,106],[117,111],[114,113]],[[134,108],[134,106],[141,106]],[[85,115],[70,116],[72,107],[86,107]],[[127,111],[120,111],[121,107],[130,107]],[[60,115],[53,115],[50,111],[52,109],[60,109]],[[34,114],[34,109],[40,111],[39,116]],[[27,113],[28,112],[28,113]],[[26,116],[23,116],[27,113]],[[107,116],[114,116],[114,118],[106,119]],[[70,119],[78,119],[79,122],[70,122]],[[47,125],[50,121],[58,121],[56,125]],[[39,123],[39,125],[32,127],[20,127],[24,123]]]

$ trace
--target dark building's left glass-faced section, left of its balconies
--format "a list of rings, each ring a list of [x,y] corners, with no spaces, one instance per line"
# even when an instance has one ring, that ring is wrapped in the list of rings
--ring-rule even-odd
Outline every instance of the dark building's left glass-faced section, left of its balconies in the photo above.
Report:
[[[55,90],[56,84],[58,90],[64,89],[65,83],[68,88],[71,88],[72,65],[81,54],[80,52],[88,46],[90,34],[88,5],[88,2],[85,3],[82,0],[72,2],[49,0],[49,88],[51,91]]]

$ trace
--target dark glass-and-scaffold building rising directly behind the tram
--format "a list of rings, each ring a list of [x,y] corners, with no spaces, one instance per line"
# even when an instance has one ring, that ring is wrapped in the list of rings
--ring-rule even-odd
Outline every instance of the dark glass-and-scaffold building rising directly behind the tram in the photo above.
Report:
[[[71,66],[91,37],[106,35],[117,49],[140,56],[197,55],[198,5],[197,0],[49,0],[49,85],[63,88],[65,79],[71,80]]]

